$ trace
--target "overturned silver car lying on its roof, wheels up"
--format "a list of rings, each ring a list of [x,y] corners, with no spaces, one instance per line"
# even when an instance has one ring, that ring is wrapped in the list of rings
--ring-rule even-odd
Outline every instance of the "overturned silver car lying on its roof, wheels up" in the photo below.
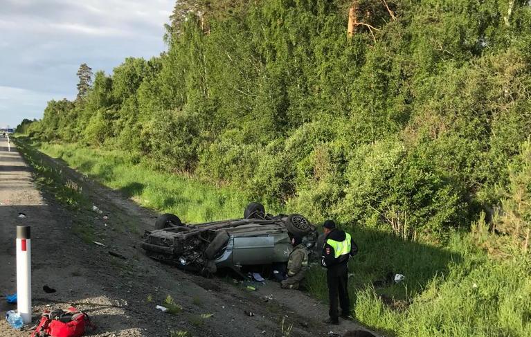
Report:
[[[175,215],[161,215],[141,246],[154,259],[208,275],[218,268],[285,263],[293,236],[312,248],[318,234],[302,215],[273,216],[262,204],[250,203],[242,219],[183,224]]]

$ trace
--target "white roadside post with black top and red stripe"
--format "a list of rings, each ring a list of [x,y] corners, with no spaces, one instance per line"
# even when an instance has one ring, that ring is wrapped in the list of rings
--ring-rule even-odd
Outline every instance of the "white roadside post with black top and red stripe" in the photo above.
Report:
[[[31,322],[30,226],[17,226],[17,309],[24,323]]]

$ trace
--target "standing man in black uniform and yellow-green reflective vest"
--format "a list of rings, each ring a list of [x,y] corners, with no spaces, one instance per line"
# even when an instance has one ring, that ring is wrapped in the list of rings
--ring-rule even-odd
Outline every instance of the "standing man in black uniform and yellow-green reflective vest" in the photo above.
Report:
[[[358,247],[350,234],[337,229],[332,220],[323,224],[325,244],[323,246],[323,259],[321,264],[327,269],[326,280],[328,296],[330,299],[330,317],[325,320],[327,324],[339,324],[337,300],[341,306],[341,317],[351,319],[350,300],[348,298],[348,259],[358,252]]]

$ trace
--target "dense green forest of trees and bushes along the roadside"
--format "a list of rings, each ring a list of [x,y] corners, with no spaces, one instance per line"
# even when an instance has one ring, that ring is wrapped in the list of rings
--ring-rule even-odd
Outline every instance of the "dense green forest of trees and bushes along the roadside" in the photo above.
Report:
[[[166,31],[158,57],[82,64],[78,97],[17,132],[316,223],[450,246],[467,233],[531,270],[528,1],[177,1]],[[519,312],[518,334],[507,321],[477,336],[531,336]],[[404,336],[436,336],[421,330]]]

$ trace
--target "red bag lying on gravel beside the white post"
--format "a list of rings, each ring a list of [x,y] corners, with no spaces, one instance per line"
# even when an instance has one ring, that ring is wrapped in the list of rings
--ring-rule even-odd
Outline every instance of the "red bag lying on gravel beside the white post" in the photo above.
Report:
[[[89,320],[87,313],[83,313],[75,308],[69,308],[60,316],[54,315],[56,311],[50,313],[44,311],[31,337],[81,337],[85,333],[87,325],[96,329]]]

